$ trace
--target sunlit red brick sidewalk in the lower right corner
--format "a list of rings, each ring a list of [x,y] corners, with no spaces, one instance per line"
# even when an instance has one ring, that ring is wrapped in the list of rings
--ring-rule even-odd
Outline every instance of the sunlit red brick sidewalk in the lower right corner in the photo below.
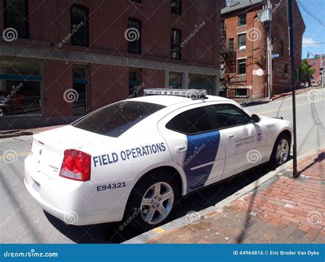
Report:
[[[149,243],[325,243],[324,158],[325,151],[304,158],[300,178],[286,170],[268,187]]]

